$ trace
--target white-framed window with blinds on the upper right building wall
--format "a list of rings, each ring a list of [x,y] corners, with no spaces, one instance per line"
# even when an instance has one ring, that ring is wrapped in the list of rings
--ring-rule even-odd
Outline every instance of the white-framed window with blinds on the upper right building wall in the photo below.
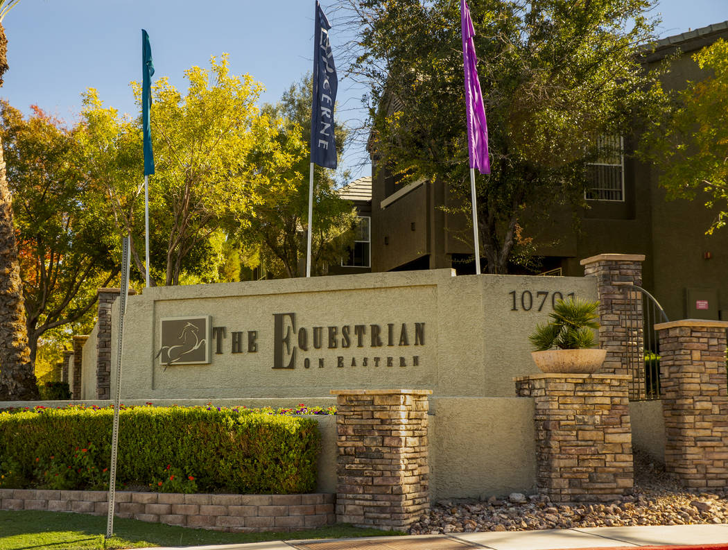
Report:
[[[587,162],[586,200],[625,200],[625,149],[621,135],[600,135],[598,156]]]

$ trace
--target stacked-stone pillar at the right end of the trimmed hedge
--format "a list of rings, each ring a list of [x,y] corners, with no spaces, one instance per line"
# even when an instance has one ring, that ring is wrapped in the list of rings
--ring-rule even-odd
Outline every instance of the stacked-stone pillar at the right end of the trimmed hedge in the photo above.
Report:
[[[403,529],[430,508],[430,390],[331,390],[336,395],[336,520]]]

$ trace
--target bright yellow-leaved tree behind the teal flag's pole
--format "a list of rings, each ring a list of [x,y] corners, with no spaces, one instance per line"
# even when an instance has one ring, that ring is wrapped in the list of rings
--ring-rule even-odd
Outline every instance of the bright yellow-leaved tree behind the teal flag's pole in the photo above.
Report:
[[[184,97],[164,78],[152,91],[151,275],[165,285],[207,265],[210,239],[248,224],[261,189],[290,189],[281,176],[298,148],[280,141],[275,121],[256,106],[262,86],[230,75],[226,55],[213,57],[210,71],[192,67],[185,75]],[[139,98],[141,87],[134,90]],[[132,238],[132,259],[144,275],[141,120],[104,109],[95,90],[85,95],[83,117],[88,176],[107,189],[116,226]]]

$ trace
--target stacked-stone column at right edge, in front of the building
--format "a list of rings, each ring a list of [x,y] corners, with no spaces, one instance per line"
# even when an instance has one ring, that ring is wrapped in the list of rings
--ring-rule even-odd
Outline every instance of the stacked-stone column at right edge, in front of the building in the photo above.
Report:
[[[654,326],[660,339],[665,465],[685,487],[728,484],[728,321],[686,319]]]

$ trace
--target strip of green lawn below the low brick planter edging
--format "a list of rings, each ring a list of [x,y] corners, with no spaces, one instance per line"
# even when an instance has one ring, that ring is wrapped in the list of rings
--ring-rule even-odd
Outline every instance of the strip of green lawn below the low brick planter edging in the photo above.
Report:
[[[134,519],[114,519],[114,538],[104,541],[106,516],[41,511],[0,511],[0,550],[93,550],[143,546],[197,546],[298,538],[349,538],[401,535],[349,525],[295,533],[218,533]]]

